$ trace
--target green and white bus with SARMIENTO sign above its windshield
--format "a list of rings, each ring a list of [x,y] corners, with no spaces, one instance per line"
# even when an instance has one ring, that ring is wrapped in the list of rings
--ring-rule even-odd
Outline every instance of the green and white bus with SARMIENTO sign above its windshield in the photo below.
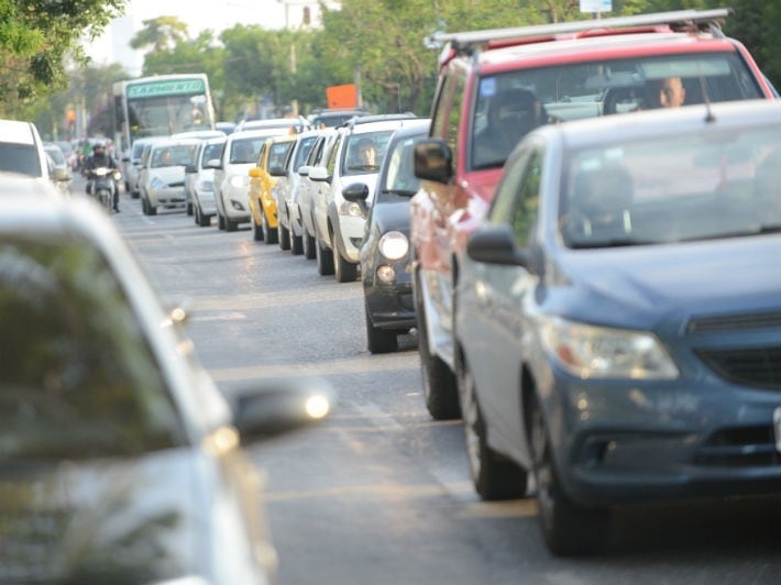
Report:
[[[140,137],[215,130],[215,108],[206,74],[117,81],[113,95],[117,154],[128,154]]]

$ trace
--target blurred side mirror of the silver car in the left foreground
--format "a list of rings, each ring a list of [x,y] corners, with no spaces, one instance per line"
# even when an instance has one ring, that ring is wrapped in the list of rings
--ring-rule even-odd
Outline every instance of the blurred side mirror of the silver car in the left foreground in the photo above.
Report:
[[[243,444],[272,439],[324,420],[336,390],[322,378],[267,378],[227,395]]]

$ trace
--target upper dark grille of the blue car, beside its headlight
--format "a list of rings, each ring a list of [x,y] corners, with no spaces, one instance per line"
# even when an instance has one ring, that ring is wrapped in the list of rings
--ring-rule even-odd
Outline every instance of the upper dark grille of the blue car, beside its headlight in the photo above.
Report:
[[[781,391],[781,345],[739,350],[695,350],[696,355],[722,378]]]

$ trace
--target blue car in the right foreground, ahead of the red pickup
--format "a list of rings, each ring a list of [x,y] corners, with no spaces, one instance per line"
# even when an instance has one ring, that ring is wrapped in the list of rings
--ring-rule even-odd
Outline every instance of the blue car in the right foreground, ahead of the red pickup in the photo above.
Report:
[[[781,492],[780,256],[781,103],[530,133],[454,300],[480,496],[534,477],[575,554],[619,504]]]

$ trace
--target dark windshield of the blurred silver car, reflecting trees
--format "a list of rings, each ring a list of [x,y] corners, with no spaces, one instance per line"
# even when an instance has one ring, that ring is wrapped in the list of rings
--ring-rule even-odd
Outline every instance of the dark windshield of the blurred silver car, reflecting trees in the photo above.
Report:
[[[0,244],[0,459],[134,455],[185,429],[124,292],[81,242]]]

